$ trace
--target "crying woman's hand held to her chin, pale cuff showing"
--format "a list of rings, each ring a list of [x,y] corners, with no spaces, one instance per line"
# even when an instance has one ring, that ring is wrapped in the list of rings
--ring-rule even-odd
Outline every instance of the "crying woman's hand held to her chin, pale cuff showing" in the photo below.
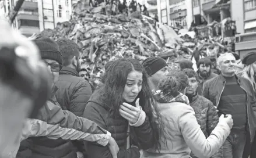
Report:
[[[124,119],[127,119],[129,123],[135,124],[139,119],[141,113],[141,106],[139,106],[139,98],[135,102],[136,107],[129,105],[128,103],[122,103],[119,112]]]

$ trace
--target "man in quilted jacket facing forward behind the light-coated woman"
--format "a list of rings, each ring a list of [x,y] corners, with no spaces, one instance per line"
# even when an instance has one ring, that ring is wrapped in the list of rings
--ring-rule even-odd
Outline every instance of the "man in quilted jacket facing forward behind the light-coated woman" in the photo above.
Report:
[[[185,95],[188,96],[188,99],[190,100],[190,106],[195,111],[197,122],[200,125],[202,132],[204,132],[205,137],[207,138],[219,122],[218,113],[210,100],[206,99],[204,96],[198,95],[198,74],[192,69],[184,69],[183,72],[188,76],[187,81],[189,84]],[[222,151],[223,148],[221,147],[212,157],[222,158]],[[195,156],[193,153],[191,153],[191,157],[197,158],[197,156]]]

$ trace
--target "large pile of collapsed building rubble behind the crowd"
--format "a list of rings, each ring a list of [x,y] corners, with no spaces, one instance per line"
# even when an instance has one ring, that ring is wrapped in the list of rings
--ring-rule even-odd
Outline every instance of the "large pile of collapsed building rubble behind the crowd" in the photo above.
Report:
[[[73,8],[71,20],[58,23],[54,30],[44,30],[40,35],[75,41],[79,45],[82,67],[89,70],[91,76],[100,76],[104,64],[117,58],[142,61],[160,56],[167,60],[171,69],[176,69],[178,60],[191,58],[195,46],[205,54],[225,48],[216,38],[177,35],[172,27],[139,11],[111,15],[108,8],[105,4],[91,8],[86,1],[79,1]]]

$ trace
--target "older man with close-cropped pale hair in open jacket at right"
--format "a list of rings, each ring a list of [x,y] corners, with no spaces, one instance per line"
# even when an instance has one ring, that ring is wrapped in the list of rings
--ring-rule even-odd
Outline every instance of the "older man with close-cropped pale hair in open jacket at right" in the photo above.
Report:
[[[223,157],[242,157],[246,139],[253,142],[256,127],[254,90],[246,78],[236,76],[236,59],[232,53],[218,58],[222,74],[205,82],[202,95],[211,100],[220,114],[232,114],[234,121],[229,137],[223,143]]]

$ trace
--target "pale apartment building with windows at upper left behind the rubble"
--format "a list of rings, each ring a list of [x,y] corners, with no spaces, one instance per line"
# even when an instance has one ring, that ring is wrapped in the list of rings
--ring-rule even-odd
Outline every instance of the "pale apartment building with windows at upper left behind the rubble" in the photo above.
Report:
[[[8,15],[18,0],[3,1],[5,15]],[[33,33],[39,33],[44,29],[53,29],[58,22],[68,21],[71,13],[71,0],[25,0],[17,14],[13,27],[29,37]]]

